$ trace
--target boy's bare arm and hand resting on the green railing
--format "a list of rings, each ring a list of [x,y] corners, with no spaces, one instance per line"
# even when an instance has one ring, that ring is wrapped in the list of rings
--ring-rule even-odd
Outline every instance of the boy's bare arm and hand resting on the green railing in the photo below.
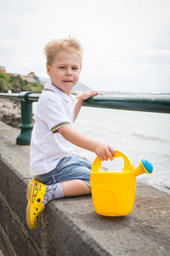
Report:
[[[97,91],[88,90],[77,97],[78,102],[77,102],[77,105],[76,105],[75,111],[74,111],[74,121],[77,119],[78,113],[80,112],[80,109],[82,108],[82,102],[87,100],[88,98],[90,98],[92,96],[96,96],[96,95],[98,95]]]

